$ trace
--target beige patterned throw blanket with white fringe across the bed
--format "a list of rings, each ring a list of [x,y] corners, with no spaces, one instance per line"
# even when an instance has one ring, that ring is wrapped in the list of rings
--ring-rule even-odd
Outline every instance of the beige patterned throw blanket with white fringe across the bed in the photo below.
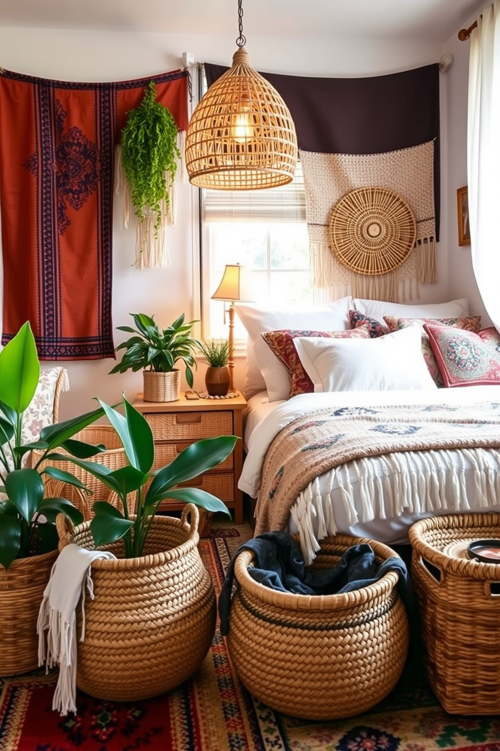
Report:
[[[456,406],[381,406],[322,409],[297,418],[277,434],[265,457],[256,507],[256,535],[284,529],[290,509],[301,499],[304,514],[319,513],[315,478],[334,469],[343,492],[349,523],[358,522],[346,462],[355,463],[361,482],[362,520],[385,518],[382,498],[390,494],[390,514],[437,511],[445,505],[445,482],[451,481],[457,508],[468,508],[463,472],[447,457],[466,452],[476,474],[481,508],[500,502],[500,403]],[[496,471],[486,461],[493,454]],[[427,452],[428,472],[415,472],[415,452]],[[383,457],[385,483],[370,469],[369,457]],[[394,477],[394,492],[388,478]],[[460,500],[463,504],[460,505]],[[315,508],[313,508],[313,506]],[[327,511],[328,514],[328,511]],[[333,515],[320,520],[319,537],[334,534]],[[319,549],[315,547],[315,550]],[[307,551],[304,551],[306,556]],[[310,556],[308,556],[310,557]]]

